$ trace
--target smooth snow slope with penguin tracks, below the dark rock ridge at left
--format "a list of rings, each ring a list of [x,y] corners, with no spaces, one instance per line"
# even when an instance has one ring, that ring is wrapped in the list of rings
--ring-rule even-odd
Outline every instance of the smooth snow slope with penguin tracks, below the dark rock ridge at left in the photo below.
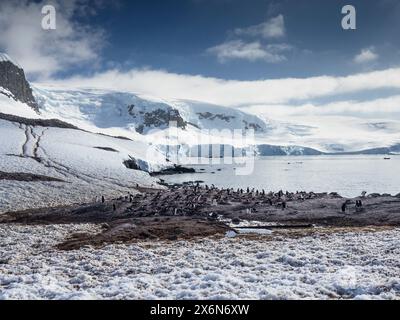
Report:
[[[63,181],[1,181],[0,213],[93,201],[100,195],[134,193],[136,184],[156,185],[147,172],[124,165],[131,157],[142,170],[158,171],[167,166],[165,158],[156,150],[150,152],[143,142],[81,130],[0,119],[0,136],[0,171],[44,175]]]

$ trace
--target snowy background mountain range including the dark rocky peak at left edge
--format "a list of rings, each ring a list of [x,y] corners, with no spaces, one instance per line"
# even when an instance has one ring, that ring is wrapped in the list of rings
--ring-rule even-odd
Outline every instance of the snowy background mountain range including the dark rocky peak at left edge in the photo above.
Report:
[[[1,113],[58,119],[89,132],[140,140],[159,146],[160,150],[173,143],[187,145],[188,150],[196,149],[201,144],[199,137],[212,145],[225,145],[227,140],[221,135],[222,130],[253,129],[256,151],[261,156],[399,153],[400,144],[397,143],[377,146],[375,142],[374,147],[365,148],[365,143],[357,145],[355,140],[350,147],[335,141],[334,137],[328,141],[321,139],[317,128],[262,119],[237,109],[198,101],[171,101],[127,92],[60,88],[51,84],[36,84],[31,88],[23,69],[6,54],[0,54],[1,95]],[[13,104],[12,100],[18,103]],[[179,132],[177,142],[170,141],[167,135],[171,121],[176,123]],[[366,132],[380,130],[382,134],[400,130],[400,126],[390,127],[386,123],[357,126],[362,126]],[[217,131],[213,133],[212,130]],[[238,142],[233,147],[240,145]]]

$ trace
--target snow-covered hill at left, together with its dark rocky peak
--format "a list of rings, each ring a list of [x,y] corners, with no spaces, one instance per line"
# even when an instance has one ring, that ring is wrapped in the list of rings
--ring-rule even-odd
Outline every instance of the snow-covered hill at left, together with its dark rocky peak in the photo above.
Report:
[[[93,132],[79,128],[83,122],[75,121],[72,108],[61,106],[59,114],[34,108],[23,70],[4,55],[2,68],[0,213],[135,193],[137,185],[157,186],[149,172],[171,166],[157,148],[136,136],[127,139],[96,133],[94,126]]]

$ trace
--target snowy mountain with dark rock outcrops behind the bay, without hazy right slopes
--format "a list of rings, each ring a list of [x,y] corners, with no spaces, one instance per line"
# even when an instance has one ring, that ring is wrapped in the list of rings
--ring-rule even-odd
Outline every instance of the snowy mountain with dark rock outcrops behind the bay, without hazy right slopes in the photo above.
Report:
[[[34,95],[43,117],[63,119],[107,134],[151,135],[168,129],[170,122],[186,132],[254,129],[263,134],[268,131],[266,122],[254,115],[197,101],[167,101],[126,92],[65,90],[44,85],[35,85]]]

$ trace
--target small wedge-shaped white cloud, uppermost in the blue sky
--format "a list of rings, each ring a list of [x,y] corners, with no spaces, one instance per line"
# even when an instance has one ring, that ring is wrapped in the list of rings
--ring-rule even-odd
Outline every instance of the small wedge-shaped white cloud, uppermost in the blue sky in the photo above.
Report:
[[[285,36],[285,19],[278,15],[268,21],[248,28],[238,28],[234,31],[238,36],[263,37],[265,39]]]

